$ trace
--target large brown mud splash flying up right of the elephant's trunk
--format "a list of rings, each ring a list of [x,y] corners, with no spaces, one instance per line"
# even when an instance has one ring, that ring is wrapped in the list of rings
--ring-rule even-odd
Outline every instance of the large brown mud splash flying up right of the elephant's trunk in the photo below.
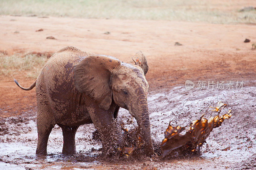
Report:
[[[222,108],[226,107],[226,104],[218,102],[218,107],[212,112],[218,112]],[[204,115],[198,120],[194,120],[190,123],[188,131],[184,135],[181,133],[186,130],[186,127],[172,127],[171,122],[168,128],[164,132],[164,139],[161,143],[161,159],[167,159],[174,156],[181,156],[189,152],[199,152],[200,148],[206,143],[206,138],[210,135],[213,128],[217,128],[225,119],[231,117],[231,110],[224,115],[216,115],[205,119]]]

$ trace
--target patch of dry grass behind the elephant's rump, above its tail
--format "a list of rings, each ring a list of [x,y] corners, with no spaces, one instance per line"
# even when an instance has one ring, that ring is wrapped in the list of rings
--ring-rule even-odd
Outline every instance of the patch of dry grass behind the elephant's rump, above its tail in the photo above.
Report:
[[[0,75],[14,76],[24,74],[25,77],[36,78],[47,61],[47,57],[35,54],[6,55],[0,53]]]

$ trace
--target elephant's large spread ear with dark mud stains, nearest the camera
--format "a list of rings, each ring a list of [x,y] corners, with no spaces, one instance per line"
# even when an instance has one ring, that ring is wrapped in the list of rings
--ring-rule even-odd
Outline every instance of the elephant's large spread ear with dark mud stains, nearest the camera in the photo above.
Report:
[[[74,66],[76,89],[94,99],[100,108],[108,110],[112,103],[110,87],[112,71],[120,61],[106,55],[91,55]]]

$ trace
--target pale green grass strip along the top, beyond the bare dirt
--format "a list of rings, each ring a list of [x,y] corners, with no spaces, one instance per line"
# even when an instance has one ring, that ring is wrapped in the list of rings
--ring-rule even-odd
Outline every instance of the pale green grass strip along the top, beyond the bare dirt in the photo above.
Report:
[[[1,0],[0,14],[256,23],[255,1],[227,0]]]

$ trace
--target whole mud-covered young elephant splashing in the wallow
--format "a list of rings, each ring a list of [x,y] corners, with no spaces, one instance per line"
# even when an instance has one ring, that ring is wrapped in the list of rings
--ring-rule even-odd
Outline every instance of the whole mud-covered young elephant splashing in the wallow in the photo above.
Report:
[[[62,153],[75,153],[75,134],[80,125],[93,123],[100,133],[103,153],[123,146],[120,107],[135,117],[144,141],[144,152],[153,154],[148,114],[148,64],[142,52],[132,57],[135,64],[120,62],[107,55],[66,47],[45,63],[36,81],[36,154],[47,154],[52,128],[58,124],[63,133]]]

